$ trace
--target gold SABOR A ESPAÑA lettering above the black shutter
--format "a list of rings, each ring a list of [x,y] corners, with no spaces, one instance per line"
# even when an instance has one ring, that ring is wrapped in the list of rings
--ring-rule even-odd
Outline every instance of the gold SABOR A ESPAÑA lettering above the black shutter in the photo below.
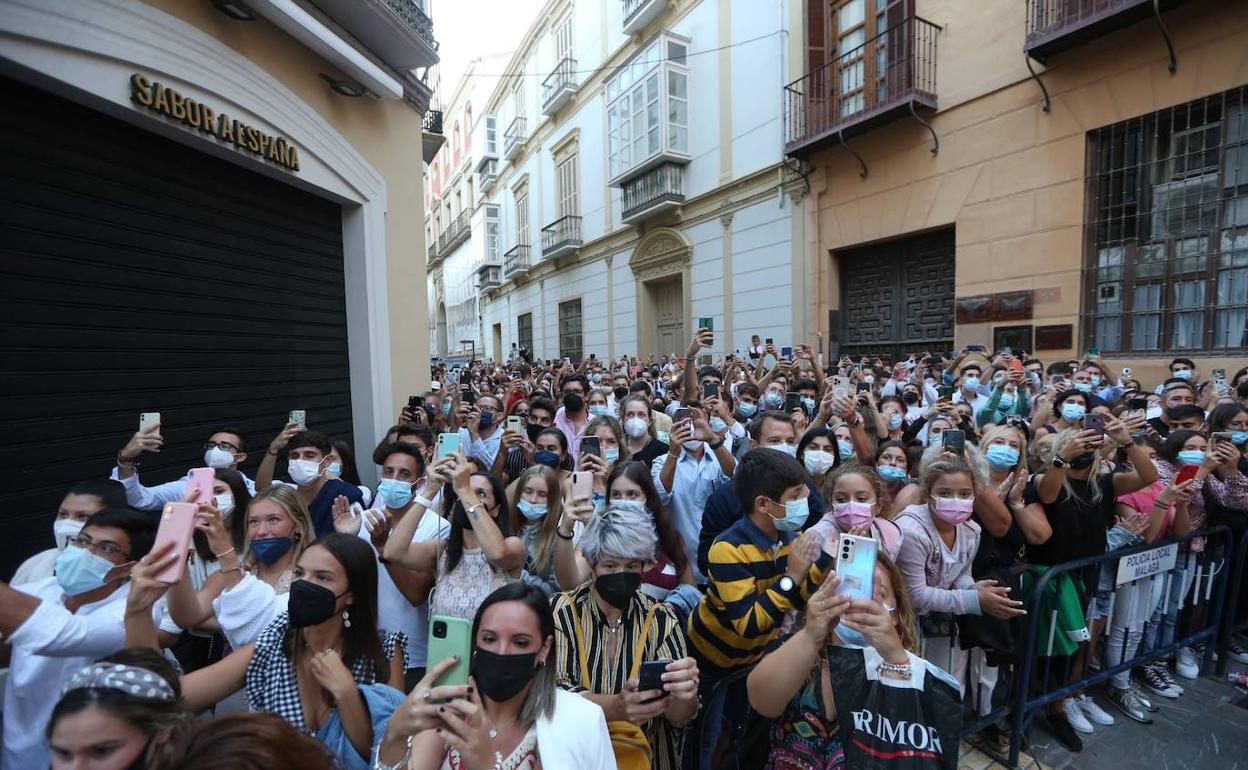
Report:
[[[250,152],[282,168],[300,170],[298,150],[285,136],[272,136],[225,112],[213,112],[212,107],[147,80],[139,72],[130,76],[130,100],[152,112],[176,120],[192,131],[213,136],[222,144]]]

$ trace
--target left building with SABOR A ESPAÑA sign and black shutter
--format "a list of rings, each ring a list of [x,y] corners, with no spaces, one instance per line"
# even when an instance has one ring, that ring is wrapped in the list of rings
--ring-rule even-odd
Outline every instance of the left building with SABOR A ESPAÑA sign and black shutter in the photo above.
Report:
[[[50,544],[49,514],[107,475],[141,412],[161,414],[142,468],[158,483],[202,464],[221,424],[247,434],[252,473],[291,409],[368,457],[427,387],[426,10],[0,1],[2,424],[20,458],[0,563]]]

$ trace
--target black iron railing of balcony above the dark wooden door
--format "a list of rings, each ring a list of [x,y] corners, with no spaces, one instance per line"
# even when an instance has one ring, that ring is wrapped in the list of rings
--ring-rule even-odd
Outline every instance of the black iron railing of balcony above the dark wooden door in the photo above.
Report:
[[[914,107],[936,109],[936,34],[910,16],[785,86],[785,154],[811,152]]]

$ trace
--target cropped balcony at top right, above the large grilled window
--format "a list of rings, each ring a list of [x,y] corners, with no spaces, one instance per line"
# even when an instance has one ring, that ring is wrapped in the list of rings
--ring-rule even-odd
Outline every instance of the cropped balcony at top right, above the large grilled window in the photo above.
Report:
[[[1023,51],[1041,64],[1184,0],[1027,0]]]

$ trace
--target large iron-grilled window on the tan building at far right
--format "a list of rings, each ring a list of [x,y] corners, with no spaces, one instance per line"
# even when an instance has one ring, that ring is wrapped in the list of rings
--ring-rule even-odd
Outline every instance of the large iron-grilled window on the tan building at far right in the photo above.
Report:
[[[1248,87],[1088,135],[1087,344],[1248,349]]]

